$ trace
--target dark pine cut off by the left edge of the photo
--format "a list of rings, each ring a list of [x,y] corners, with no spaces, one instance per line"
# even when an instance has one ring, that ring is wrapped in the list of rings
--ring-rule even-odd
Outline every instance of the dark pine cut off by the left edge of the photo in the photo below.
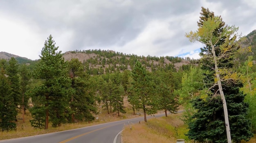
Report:
[[[0,129],[2,131],[15,130],[17,107],[14,104],[10,81],[4,75],[4,70],[0,70]]]

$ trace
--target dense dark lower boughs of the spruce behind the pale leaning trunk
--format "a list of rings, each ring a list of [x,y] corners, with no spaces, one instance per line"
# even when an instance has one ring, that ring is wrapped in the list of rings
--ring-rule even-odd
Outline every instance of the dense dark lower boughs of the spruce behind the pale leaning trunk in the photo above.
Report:
[[[229,112],[231,138],[233,142],[240,143],[242,139],[249,141],[253,134],[249,130],[250,121],[247,119],[249,105],[244,102],[245,94],[237,86],[233,84],[223,89]],[[198,111],[191,117],[187,133],[189,138],[200,142],[208,141],[207,143],[227,143],[220,96],[209,95],[206,99],[197,97],[191,103]]]

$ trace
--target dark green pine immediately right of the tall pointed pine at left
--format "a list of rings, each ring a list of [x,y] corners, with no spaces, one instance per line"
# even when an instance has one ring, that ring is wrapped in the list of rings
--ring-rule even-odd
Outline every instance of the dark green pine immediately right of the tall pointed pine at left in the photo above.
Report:
[[[92,121],[94,117],[92,113],[96,113],[94,107],[94,97],[92,89],[88,88],[90,84],[89,76],[85,74],[83,65],[78,59],[71,59],[68,62],[68,70],[72,80],[71,89],[73,90],[70,98],[70,108],[72,110],[72,123],[74,120]]]

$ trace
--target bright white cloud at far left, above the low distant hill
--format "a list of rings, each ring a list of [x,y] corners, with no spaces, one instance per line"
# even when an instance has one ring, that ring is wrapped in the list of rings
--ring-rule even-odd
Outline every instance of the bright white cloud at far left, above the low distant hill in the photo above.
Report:
[[[20,20],[0,15],[1,51],[31,59],[38,59],[42,40],[37,31]]]

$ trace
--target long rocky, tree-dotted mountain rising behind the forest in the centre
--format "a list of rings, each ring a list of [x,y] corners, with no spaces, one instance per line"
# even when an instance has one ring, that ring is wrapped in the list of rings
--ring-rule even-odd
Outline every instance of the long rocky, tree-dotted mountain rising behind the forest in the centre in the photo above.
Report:
[[[134,54],[123,54],[112,50],[83,50],[83,51],[69,51],[63,54],[65,61],[72,58],[77,58],[85,65],[88,74],[97,73],[110,70],[131,70],[135,61],[139,60],[149,71],[155,70],[159,67],[164,69],[178,70],[183,65],[196,63],[194,59],[183,59],[173,56],[137,56]]]

